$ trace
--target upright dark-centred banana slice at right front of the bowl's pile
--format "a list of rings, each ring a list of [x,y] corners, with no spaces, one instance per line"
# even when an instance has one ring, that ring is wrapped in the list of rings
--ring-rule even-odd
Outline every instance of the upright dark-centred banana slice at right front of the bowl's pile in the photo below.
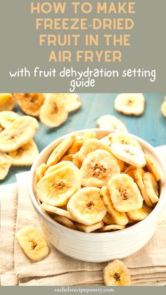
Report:
[[[107,186],[117,211],[129,212],[141,209],[143,199],[132,177],[127,174],[114,175]]]

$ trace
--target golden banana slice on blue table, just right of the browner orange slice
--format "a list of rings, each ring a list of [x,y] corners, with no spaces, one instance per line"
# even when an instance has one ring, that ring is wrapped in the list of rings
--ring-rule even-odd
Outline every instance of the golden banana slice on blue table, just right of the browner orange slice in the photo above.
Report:
[[[68,118],[68,111],[62,94],[46,94],[46,99],[40,109],[41,123],[48,127],[58,127]]]

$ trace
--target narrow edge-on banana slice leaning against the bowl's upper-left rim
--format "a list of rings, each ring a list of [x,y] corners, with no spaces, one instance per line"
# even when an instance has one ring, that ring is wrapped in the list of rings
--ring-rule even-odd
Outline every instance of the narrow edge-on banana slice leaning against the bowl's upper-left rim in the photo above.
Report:
[[[51,155],[49,156],[46,165],[51,166],[58,163],[60,158],[65,155],[65,152],[68,151],[72,143],[75,141],[75,134],[70,134],[63,139],[58,146],[52,151]]]

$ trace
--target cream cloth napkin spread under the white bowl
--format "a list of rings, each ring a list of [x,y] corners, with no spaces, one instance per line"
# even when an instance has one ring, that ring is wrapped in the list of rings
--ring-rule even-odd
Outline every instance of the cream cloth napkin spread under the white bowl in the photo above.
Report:
[[[166,160],[166,146],[157,148]],[[29,172],[17,177],[17,185],[0,187],[1,196],[1,285],[56,286],[102,285],[102,270],[106,263],[85,263],[65,256],[49,245],[43,261],[30,261],[15,239],[15,232],[27,225],[39,227],[27,189]],[[166,208],[160,216],[158,229],[151,241],[123,261],[129,268],[134,285],[162,286],[166,284]]]

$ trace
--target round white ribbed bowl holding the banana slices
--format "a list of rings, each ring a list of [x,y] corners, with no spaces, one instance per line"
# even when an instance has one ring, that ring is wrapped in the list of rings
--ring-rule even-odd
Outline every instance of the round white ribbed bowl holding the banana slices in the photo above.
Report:
[[[98,138],[108,135],[108,130],[93,129]],[[86,130],[74,132],[81,135]],[[160,170],[160,199],[148,217],[135,225],[127,227],[125,230],[105,233],[85,233],[77,230],[71,230],[68,227],[60,225],[51,219],[49,214],[41,211],[39,200],[37,199],[35,169],[41,164],[46,163],[47,158],[55,146],[64,138],[56,139],[55,142],[46,146],[41,151],[36,161],[32,165],[30,172],[30,198],[34,206],[41,228],[46,239],[51,242],[60,252],[80,261],[89,261],[101,263],[115,258],[125,258],[139,249],[141,249],[153,236],[158,225],[158,218],[162,208],[166,204],[166,176],[163,161],[160,159],[155,149],[143,139],[133,135],[143,147],[143,151],[150,154],[158,164]]]

